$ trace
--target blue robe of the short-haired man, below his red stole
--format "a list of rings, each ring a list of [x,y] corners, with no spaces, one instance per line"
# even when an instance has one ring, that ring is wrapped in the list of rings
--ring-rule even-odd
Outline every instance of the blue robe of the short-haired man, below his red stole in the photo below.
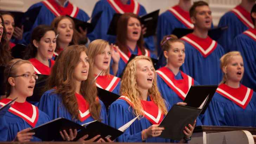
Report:
[[[224,54],[222,46],[217,44],[216,49],[206,58],[187,42],[185,49],[186,57],[181,70],[201,85],[218,85],[222,80],[219,61]]]

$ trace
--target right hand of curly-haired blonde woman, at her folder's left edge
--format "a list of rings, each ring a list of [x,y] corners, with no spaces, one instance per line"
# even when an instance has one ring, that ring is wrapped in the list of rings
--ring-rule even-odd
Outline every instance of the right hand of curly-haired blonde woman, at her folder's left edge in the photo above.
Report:
[[[146,130],[143,130],[141,132],[143,139],[160,136],[162,131],[165,128],[164,127],[158,127],[158,126],[159,126],[159,124],[153,124],[153,125],[149,126]]]

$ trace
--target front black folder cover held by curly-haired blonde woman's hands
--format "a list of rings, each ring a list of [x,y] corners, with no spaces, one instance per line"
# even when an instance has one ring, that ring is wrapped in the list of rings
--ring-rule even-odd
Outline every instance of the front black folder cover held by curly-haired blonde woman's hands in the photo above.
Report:
[[[159,125],[159,127],[165,128],[159,137],[172,140],[183,139],[185,126],[193,125],[201,111],[202,109],[195,107],[173,105]]]

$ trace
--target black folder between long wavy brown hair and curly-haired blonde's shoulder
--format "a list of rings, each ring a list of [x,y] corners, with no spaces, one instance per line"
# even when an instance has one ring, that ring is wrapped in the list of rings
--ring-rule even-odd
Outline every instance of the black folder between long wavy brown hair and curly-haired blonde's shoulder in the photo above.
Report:
[[[108,107],[113,102],[115,102],[116,99],[118,99],[120,97],[118,94],[101,89],[100,87],[97,87],[97,91],[98,91],[98,97],[104,103],[107,110],[108,110]]]

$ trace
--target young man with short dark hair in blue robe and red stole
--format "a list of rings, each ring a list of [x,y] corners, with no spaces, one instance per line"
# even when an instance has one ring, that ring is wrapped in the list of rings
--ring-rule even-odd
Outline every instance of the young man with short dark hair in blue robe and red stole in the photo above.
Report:
[[[185,41],[186,54],[181,70],[201,85],[218,85],[222,79],[219,59],[224,50],[208,36],[212,25],[208,4],[204,1],[194,2],[190,8],[190,18],[194,31],[181,38]]]

